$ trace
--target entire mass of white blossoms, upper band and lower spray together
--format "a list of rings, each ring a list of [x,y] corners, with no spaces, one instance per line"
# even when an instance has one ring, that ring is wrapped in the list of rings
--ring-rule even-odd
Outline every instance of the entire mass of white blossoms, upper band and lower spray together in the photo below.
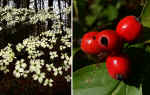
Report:
[[[25,8],[0,7],[0,21],[6,20],[8,25],[24,22],[27,19],[29,23],[51,19],[54,22],[52,30],[41,32],[37,36],[30,35],[14,46],[17,54],[27,53],[23,56],[19,55],[19,58],[13,51],[14,48],[12,49],[13,44],[8,44],[1,49],[0,70],[4,73],[12,73],[16,78],[31,77],[49,87],[53,86],[54,77],[57,76],[62,76],[70,82],[71,77],[66,74],[68,72],[71,74],[71,29],[66,28],[62,31],[61,27],[64,24],[60,22],[58,15],[47,10],[41,10],[35,14],[34,10]],[[10,65],[14,65],[14,70],[10,70]]]

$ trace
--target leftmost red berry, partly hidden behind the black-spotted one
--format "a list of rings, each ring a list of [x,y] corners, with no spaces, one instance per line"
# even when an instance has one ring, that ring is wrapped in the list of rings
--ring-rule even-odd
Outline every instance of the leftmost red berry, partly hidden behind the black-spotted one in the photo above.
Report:
[[[96,35],[98,32],[88,32],[86,33],[81,40],[81,49],[88,54],[98,54],[100,48],[96,43]]]

